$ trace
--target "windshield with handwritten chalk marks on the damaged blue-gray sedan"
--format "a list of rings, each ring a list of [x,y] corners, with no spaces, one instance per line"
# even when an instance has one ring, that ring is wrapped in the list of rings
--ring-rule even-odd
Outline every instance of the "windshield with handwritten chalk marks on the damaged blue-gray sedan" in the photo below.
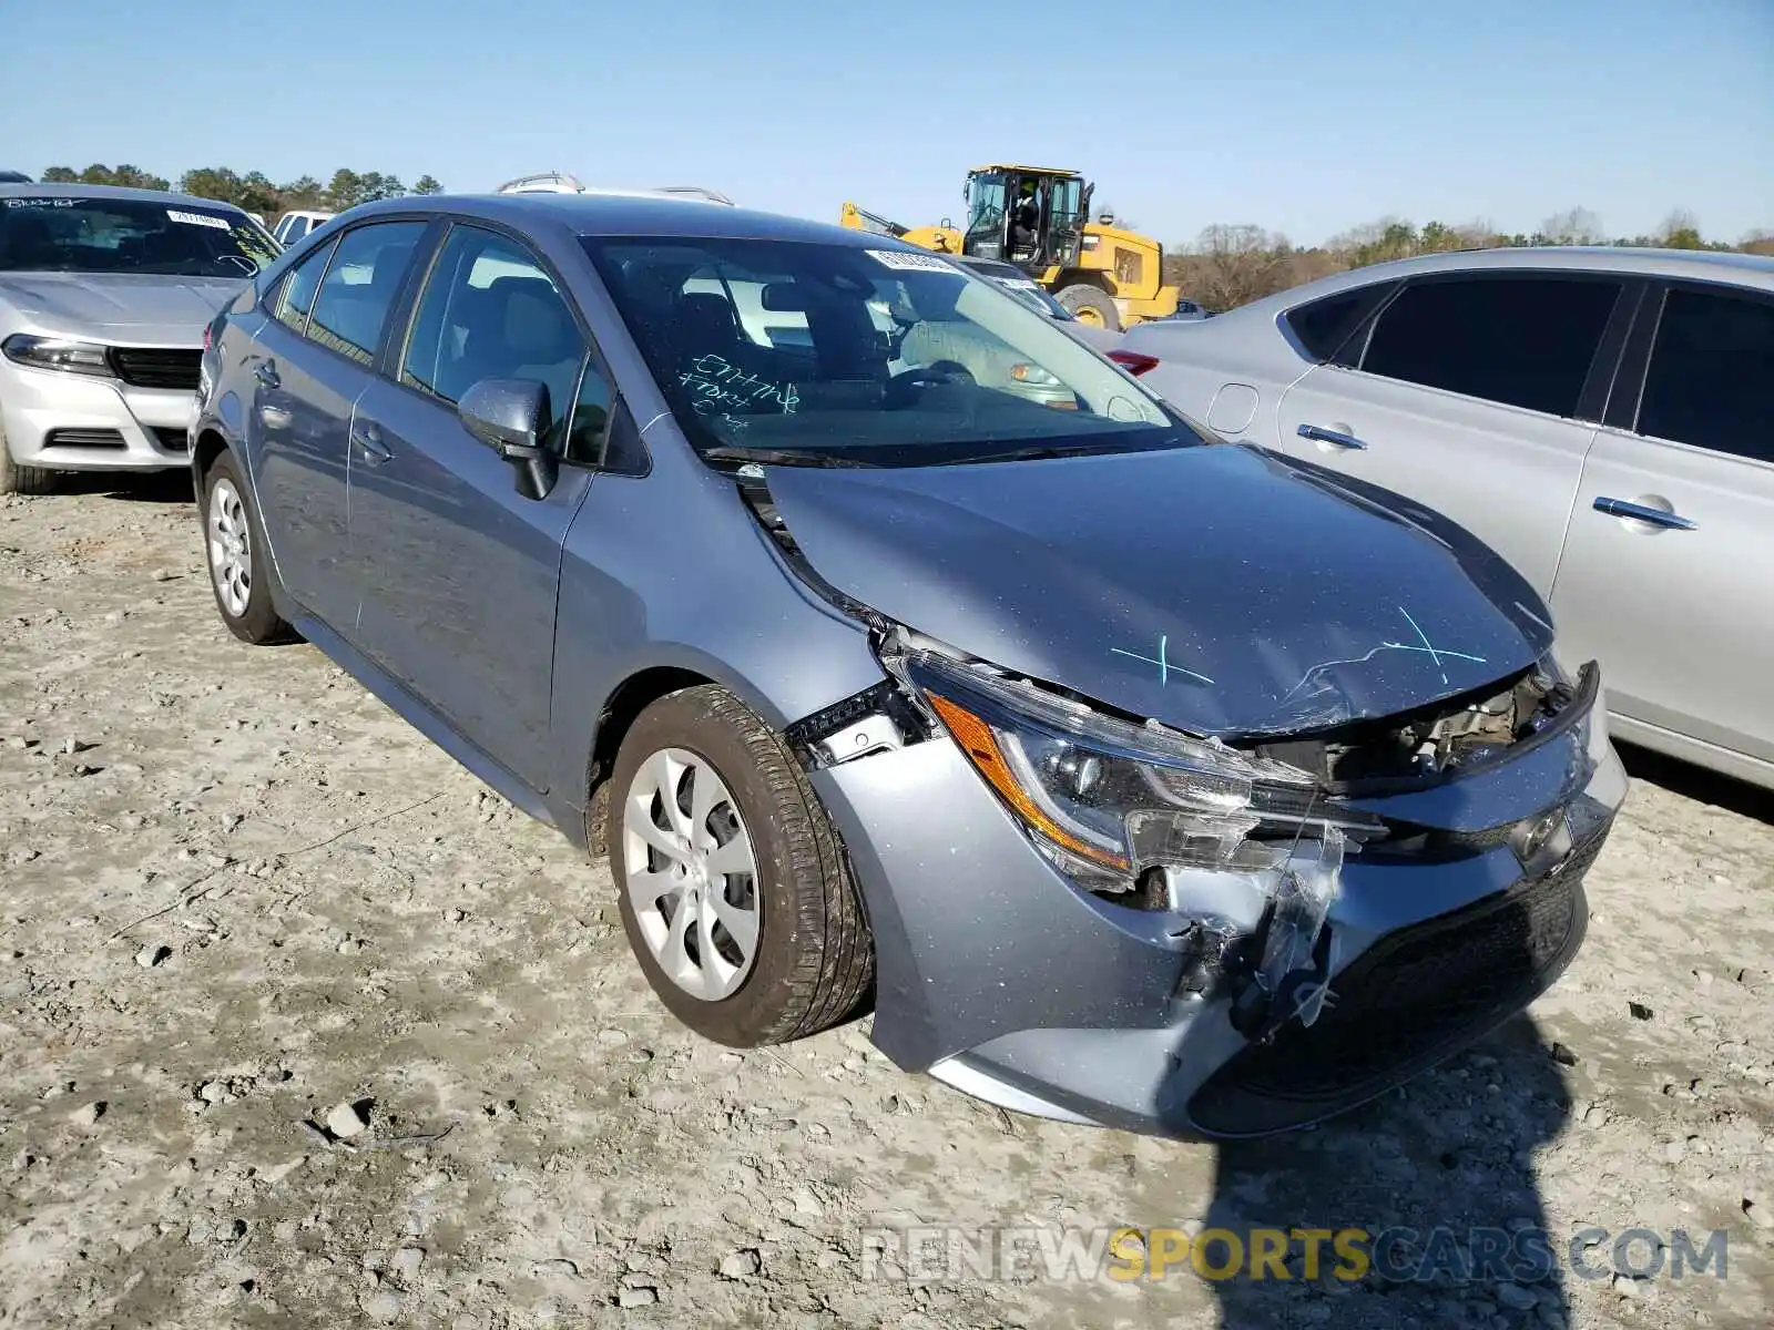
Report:
[[[584,238],[699,449],[928,465],[1203,442],[1119,367],[935,254]]]

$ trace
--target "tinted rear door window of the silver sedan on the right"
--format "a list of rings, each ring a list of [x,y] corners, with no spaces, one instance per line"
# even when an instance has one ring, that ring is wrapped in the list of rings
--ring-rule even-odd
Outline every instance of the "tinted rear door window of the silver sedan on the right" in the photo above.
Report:
[[[1620,282],[1474,277],[1407,286],[1361,367],[1428,388],[1572,415]]]

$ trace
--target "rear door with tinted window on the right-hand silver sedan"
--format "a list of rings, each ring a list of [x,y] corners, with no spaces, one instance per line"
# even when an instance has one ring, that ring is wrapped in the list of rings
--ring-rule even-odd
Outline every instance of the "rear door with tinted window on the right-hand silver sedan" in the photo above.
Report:
[[[1288,388],[1277,442],[1446,512],[1545,594],[1625,289],[1558,271],[1412,278]]]

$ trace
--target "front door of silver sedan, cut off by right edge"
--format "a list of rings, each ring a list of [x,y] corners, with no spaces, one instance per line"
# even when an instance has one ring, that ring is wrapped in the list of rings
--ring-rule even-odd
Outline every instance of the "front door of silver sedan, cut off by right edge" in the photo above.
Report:
[[[1629,376],[1582,470],[1561,637],[1600,658],[1625,738],[1770,782],[1715,750],[1774,763],[1774,294],[1653,291]]]

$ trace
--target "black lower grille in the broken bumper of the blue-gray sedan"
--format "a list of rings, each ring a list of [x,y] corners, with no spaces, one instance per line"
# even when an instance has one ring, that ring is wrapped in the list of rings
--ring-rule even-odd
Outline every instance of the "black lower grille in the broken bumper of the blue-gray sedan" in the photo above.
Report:
[[[1591,837],[1556,872],[1382,938],[1290,1021],[1196,1091],[1212,1135],[1281,1131],[1354,1108],[1472,1043],[1545,991],[1582,943]]]

